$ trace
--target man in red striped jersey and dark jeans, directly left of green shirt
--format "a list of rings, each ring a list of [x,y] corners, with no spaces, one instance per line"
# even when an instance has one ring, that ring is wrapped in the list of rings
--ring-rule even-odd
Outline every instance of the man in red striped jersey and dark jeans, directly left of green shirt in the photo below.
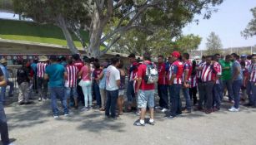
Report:
[[[220,55],[215,54],[213,65],[217,66],[217,75],[215,79],[215,84],[213,86],[213,111],[218,111],[220,109],[220,102],[221,102],[220,96],[222,94],[222,88],[219,80],[219,78],[221,77],[222,68],[221,68],[221,65],[219,65],[218,63],[219,60],[220,60]]]

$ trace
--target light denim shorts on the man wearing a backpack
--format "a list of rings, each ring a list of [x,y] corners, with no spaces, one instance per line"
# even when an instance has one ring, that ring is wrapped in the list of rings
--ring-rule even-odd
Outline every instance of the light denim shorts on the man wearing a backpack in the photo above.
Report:
[[[138,108],[146,109],[154,107],[154,89],[153,90],[138,90]]]

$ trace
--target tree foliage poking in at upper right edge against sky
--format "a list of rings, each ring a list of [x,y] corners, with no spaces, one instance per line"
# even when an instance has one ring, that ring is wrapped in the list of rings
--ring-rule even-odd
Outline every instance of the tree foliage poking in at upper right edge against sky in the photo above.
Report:
[[[250,10],[253,13],[253,19],[248,22],[248,26],[241,32],[246,39],[250,36],[256,36],[256,7]]]

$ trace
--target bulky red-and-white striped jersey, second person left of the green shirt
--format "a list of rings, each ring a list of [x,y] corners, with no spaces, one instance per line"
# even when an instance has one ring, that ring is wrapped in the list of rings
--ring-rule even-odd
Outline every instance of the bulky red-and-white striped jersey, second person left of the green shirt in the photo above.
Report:
[[[216,64],[213,64],[213,65],[205,64],[203,66],[201,80],[203,82],[213,81],[215,80],[217,73],[218,73],[218,69]]]

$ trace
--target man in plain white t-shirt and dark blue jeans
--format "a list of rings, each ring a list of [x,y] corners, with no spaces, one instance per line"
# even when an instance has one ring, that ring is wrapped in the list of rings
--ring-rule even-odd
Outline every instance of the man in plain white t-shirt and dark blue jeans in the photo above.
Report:
[[[120,72],[118,70],[118,65],[120,60],[117,57],[112,59],[112,65],[107,68],[107,78],[106,78],[106,89],[107,89],[107,104],[106,104],[106,117],[116,118],[116,106],[118,101],[118,89],[121,84],[120,82]],[[111,115],[109,114],[109,111]]]

